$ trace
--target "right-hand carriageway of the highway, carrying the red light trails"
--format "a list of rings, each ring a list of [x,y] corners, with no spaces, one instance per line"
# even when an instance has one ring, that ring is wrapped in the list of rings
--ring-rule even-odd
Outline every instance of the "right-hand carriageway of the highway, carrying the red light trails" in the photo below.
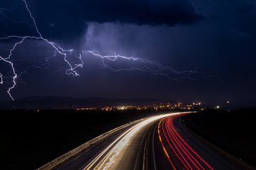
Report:
[[[182,125],[181,115],[162,119],[158,127],[169,169],[246,169],[191,135]]]

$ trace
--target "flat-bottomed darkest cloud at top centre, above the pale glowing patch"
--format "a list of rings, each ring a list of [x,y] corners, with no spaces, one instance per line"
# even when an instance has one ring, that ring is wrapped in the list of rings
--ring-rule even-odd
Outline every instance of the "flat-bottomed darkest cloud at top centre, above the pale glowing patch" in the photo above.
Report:
[[[73,16],[81,16],[85,21],[121,22],[159,25],[194,23],[202,17],[195,13],[187,0],[130,0],[130,1],[72,1],[67,8]]]

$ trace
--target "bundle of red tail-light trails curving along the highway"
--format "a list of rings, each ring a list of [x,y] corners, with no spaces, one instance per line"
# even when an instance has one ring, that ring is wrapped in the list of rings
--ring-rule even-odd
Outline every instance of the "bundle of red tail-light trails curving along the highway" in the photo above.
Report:
[[[182,139],[177,130],[175,130],[173,125],[175,118],[177,118],[177,115],[171,115],[162,120],[162,133],[167,141],[167,146],[177,156],[179,162],[184,166],[184,169],[213,170],[213,168]]]

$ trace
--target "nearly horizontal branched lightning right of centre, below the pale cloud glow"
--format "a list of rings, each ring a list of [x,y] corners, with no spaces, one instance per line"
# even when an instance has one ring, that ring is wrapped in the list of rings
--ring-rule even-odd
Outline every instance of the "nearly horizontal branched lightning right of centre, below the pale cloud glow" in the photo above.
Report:
[[[177,69],[174,69],[172,67],[165,67],[159,62],[150,61],[142,58],[137,57],[125,57],[121,55],[106,55],[102,56],[99,54],[96,54],[94,52],[89,51],[91,55],[94,55],[96,57],[101,58],[102,66],[104,68],[111,69],[113,72],[119,72],[119,71],[130,71],[130,70],[138,70],[141,72],[149,72],[151,74],[155,75],[161,75],[164,77],[167,77],[168,79],[174,79],[174,80],[181,80],[181,79],[191,79],[190,75],[195,74],[194,71],[179,71]],[[140,67],[130,67],[130,68],[121,68],[121,69],[114,69],[109,64],[106,64],[106,61],[115,62],[116,60],[124,60],[127,62],[135,62],[135,64],[140,64]]]

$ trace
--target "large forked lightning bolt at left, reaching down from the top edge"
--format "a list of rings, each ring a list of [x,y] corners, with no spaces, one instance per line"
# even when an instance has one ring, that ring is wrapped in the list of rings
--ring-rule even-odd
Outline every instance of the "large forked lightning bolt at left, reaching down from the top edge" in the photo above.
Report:
[[[83,67],[84,62],[82,61],[82,55],[79,55],[79,57],[77,57],[76,53],[74,53],[74,55],[80,60],[80,64],[74,64],[74,67],[72,66],[72,64],[70,64],[70,62],[67,60],[67,52],[72,53],[73,50],[64,50],[62,47],[56,45],[54,42],[51,42],[49,40],[47,40],[46,38],[43,38],[42,34],[40,33],[38,26],[35,22],[35,18],[33,17],[30,9],[28,8],[28,4],[26,2],[26,0],[23,0],[25,6],[26,6],[26,10],[28,11],[30,18],[33,21],[33,26],[31,24],[28,23],[29,26],[32,26],[36,33],[38,34],[37,36],[18,36],[18,35],[10,35],[4,38],[0,38],[0,40],[9,40],[9,39],[18,39],[18,42],[16,42],[13,47],[11,48],[11,50],[9,51],[9,55],[7,57],[1,57],[0,56],[0,61],[6,62],[6,64],[11,65],[11,69],[12,69],[12,86],[9,87],[9,89],[7,90],[7,93],[9,94],[10,98],[14,101],[13,96],[11,96],[11,89],[13,89],[16,86],[16,79],[18,78],[18,74],[16,74],[16,70],[13,67],[13,62],[11,62],[11,56],[14,50],[16,50],[16,47],[18,45],[21,45],[24,40],[27,39],[33,39],[33,40],[43,40],[44,42],[48,43],[53,49],[55,49],[55,55],[58,53],[62,56],[64,56],[64,61],[68,64],[69,69],[66,70],[66,74],[72,74],[73,76],[79,76],[79,74],[75,71],[75,69],[77,69],[77,67]],[[5,8],[0,8],[0,10],[4,10],[4,11],[12,11],[13,8],[11,9],[5,9]],[[5,15],[4,15],[5,16]],[[10,19],[10,18],[9,18]],[[11,19],[10,19],[11,20]],[[12,20],[11,20],[12,21]],[[27,22],[25,22],[27,23]],[[47,57],[45,60],[48,62],[49,57]],[[6,77],[3,76],[3,74],[0,73],[0,84],[4,84],[4,79],[6,79]]]

